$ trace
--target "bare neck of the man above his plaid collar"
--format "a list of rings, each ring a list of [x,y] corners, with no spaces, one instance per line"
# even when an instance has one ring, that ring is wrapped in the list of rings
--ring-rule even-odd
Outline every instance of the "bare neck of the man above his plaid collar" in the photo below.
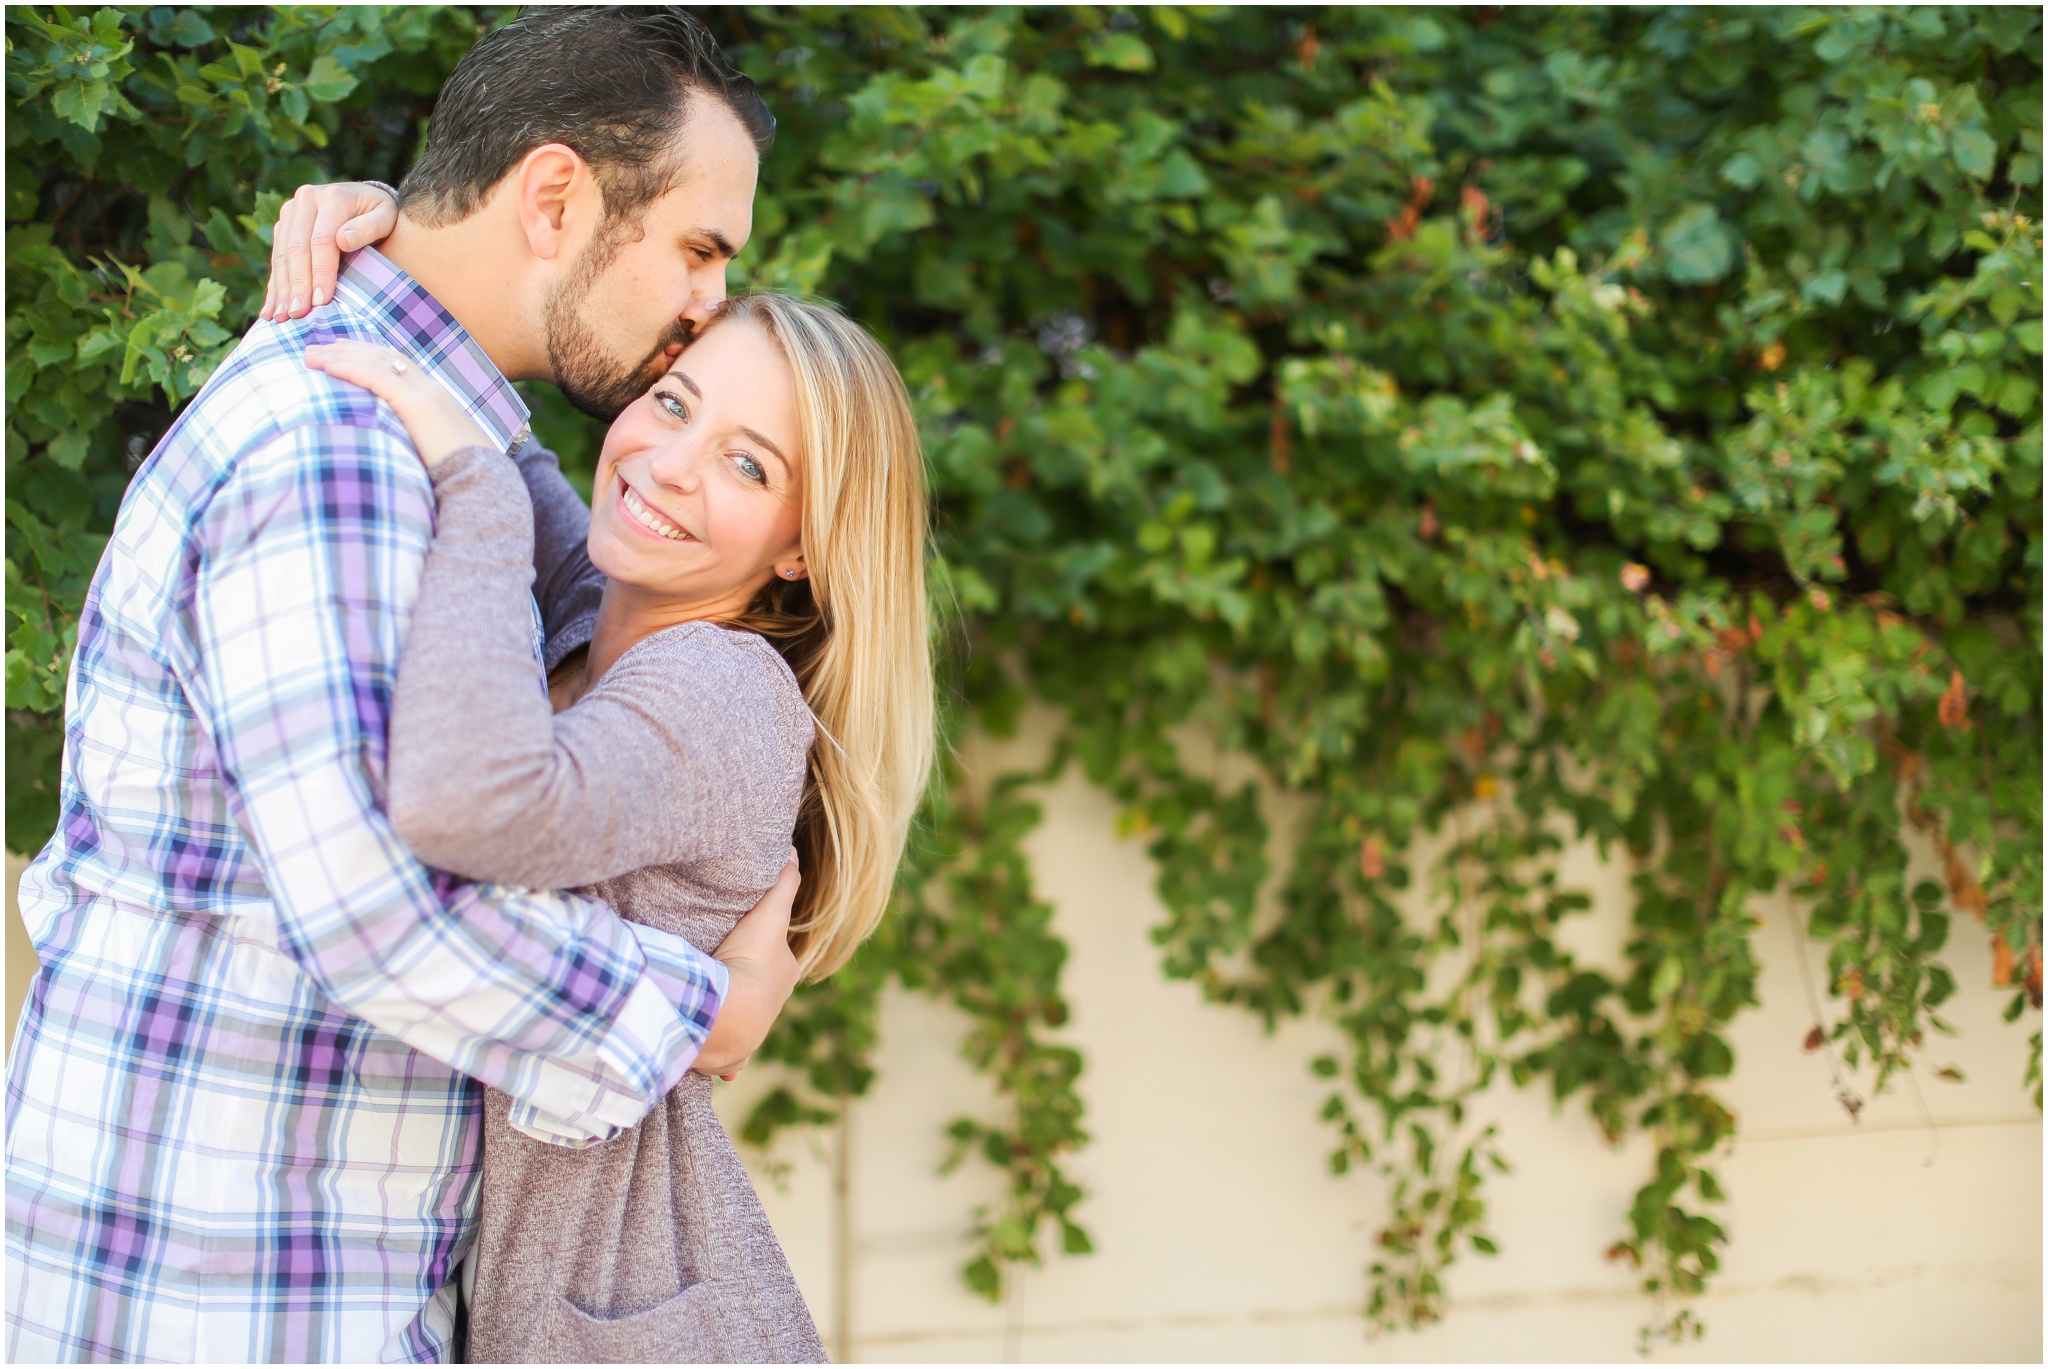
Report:
[[[377,250],[453,314],[506,379],[551,381],[543,309],[524,297],[516,256],[504,250],[504,225],[496,219],[485,207],[461,223],[428,227],[399,213]]]

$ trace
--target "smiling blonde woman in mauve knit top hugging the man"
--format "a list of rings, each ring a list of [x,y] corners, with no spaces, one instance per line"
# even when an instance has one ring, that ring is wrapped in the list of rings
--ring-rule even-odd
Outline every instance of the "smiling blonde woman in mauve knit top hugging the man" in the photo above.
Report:
[[[391,713],[399,836],[705,949],[795,840],[793,951],[807,978],[842,965],[932,746],[922,457],[874,340],[819,305],[727,301],[612,424],[590,510],[395,352],[307,365],[389,402],[436,492]],[[823,1359],[709,1078],[588,1150],[518,1123],[487,1096],[471,1361]]]

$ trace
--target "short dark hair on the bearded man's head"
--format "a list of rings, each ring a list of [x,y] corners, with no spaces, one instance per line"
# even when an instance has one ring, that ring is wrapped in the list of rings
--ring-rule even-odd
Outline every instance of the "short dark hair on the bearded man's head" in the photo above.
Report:
[[[535,6],[457,64],[399,205],[459,223],[522,156],[565,143],[590,164],[606,221],[633,223],[682,178],[684,92],[723,102],[768,156],[774,115],[682,6]]]

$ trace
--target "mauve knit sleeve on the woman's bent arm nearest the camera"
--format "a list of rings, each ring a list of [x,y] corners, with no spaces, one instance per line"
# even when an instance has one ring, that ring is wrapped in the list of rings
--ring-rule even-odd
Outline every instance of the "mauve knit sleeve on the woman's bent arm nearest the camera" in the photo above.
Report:
[[[434,469],[434,545],[391,707],[391,822],[406,844],[469,879],[573,887],[786,826],[811,723],[760,637],[664,629],[551,711],[530,652],[532,514],[518,484],[483,449]]]

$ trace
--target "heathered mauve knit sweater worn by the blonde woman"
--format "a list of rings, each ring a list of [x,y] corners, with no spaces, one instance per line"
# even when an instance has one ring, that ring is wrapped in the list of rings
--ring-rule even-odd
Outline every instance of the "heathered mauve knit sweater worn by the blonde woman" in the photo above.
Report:
[[[762,637],[684,623],[555,713],[532,660],[590,641],[604,576],[553,453],[469,449],[432,471],[434,545],[399,660],[389,807],[438,869],[582,887],[715,951],[774,883],[811,713]],[[485,1092],[473,1363],[823,1361],[754,1185],[688,1074],[631,1131],[537,1142]]]

